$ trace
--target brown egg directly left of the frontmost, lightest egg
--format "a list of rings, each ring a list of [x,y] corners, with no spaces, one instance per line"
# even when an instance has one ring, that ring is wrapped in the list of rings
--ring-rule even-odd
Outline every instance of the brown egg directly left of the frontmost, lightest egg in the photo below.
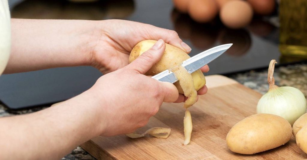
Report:
[[[193,20],[204,23],[214,19],[218,13],[215,0],[191,0],[188,12]]]

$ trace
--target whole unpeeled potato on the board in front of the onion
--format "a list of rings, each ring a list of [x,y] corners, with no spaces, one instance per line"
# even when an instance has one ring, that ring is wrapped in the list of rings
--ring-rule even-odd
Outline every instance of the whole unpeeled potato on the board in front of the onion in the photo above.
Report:
[[[292,136],[291,124],[273,114],[255,114],[235,124],[226,136],[229,149],[240,154],[255,154],[279,147]]]

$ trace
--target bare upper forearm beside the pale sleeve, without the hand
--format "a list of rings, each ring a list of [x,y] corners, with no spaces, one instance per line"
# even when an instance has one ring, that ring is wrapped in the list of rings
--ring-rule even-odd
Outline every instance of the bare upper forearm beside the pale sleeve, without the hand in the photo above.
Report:
[[[90,65],[99,35],[96,23],[12,19],[11,55],[4,73]]]

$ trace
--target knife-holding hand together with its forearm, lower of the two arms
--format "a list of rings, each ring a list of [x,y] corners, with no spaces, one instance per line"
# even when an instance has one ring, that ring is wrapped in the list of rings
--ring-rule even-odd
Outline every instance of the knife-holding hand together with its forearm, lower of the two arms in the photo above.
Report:
[[[0,141],[0,159],[60,159],[99,135],[131,133],[146,125],[163,101],[178,98],[173,84],[144,75],[164,50],[159,40],[135,62],[103,75],[76,97],[38,112],[1,118],[0,137],[6,139]],[[45,147],[48,150],[41,149]]]

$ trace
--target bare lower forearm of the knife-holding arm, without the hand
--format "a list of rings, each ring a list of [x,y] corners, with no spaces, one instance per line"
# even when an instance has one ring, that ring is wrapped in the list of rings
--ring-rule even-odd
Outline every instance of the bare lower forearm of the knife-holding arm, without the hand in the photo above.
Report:
[[[0,118],[0,159],[60,159],[76,146],[103,132],[92,95],[28,115]]]

